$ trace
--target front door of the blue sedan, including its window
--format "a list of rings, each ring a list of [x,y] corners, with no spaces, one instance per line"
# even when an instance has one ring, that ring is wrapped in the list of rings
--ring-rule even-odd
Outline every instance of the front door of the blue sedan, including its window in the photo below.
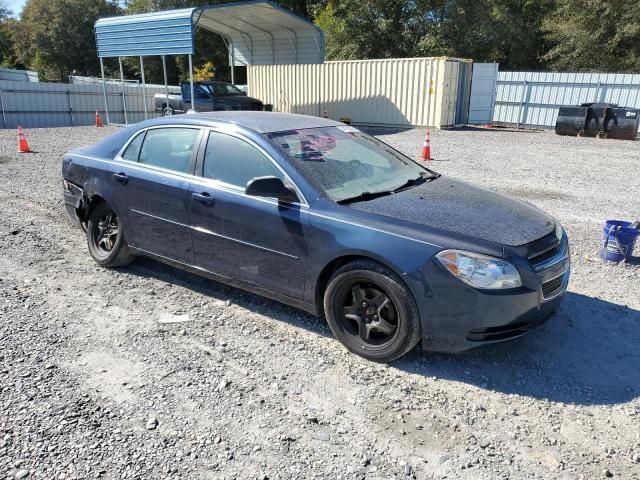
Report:
[[[298,203],[247,196],[254,177],[286,176],[256,145],[211,132],[191,184],[195,262],[225,277],[302,299],[309,214]]]

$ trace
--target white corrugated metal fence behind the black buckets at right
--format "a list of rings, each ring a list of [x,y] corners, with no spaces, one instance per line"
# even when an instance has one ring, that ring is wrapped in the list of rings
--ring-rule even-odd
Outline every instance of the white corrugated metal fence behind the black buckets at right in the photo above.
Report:
[[[587,102],[640,108],[640,75],[499,72],[493,122],[553,127],[559,106]]]

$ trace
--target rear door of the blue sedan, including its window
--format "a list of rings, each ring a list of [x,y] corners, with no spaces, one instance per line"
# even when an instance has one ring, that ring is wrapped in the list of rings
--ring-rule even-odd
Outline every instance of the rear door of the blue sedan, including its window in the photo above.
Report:
[[[189,183],[201,129],[157,127],[124,150],[114,182],[126,196],[127,241],[133,247],[189,265]],[[118,169],[118,167],[116,167]]]

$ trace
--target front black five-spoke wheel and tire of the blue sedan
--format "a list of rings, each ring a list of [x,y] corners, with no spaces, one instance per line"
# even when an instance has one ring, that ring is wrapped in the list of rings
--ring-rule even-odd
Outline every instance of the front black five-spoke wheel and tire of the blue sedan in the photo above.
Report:
[[[375,362],[402,357],[422,338],[413,295],[395,273],[372,261],[348,263],[332,275],[324,311],[336,338]]]

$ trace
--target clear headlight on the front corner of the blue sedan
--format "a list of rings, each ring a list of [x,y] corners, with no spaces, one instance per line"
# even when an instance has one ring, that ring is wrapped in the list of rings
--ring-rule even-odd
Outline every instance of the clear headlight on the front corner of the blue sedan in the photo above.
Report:
[[[461,250],[444,250],[436,255],[451,274],[475,288],[501,289],[522,286],[516,267],[499,258]]]

